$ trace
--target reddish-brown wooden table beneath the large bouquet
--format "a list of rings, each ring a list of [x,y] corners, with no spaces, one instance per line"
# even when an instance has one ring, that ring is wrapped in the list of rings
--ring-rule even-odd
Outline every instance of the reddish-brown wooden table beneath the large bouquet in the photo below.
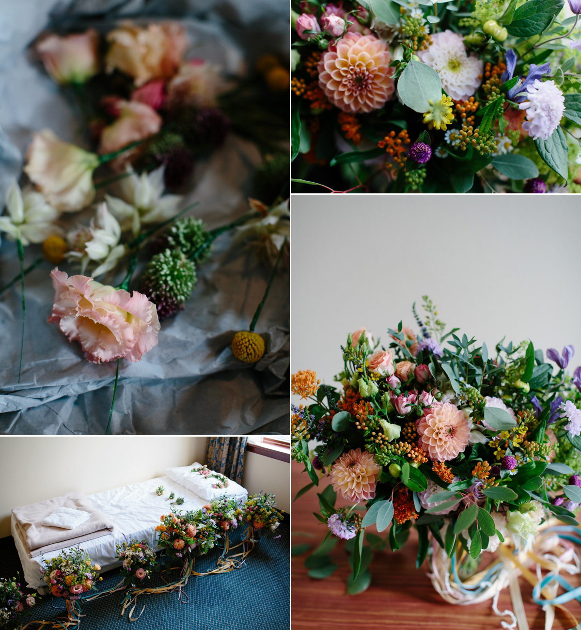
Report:
[[[292,496],[309,483],[302,466],[292,462]],[[326,487],[326,480],[319,485],[319,492]],[[292,504],[292,544],[312,544],[313,549],[323,541],[327,528],[313,516],[319,512],[317,490],[311,488]],[[345,505],[345,502],[337,505]],[[369,528],[374,533],[375,529]],[[311,536],[304,536],[310,534]],[[384,538],[388,530],[381,536]],[[314,536],[313,536],[314,535]],[[345,583],[349,575],[348,554],[344,543],[339,542],[331,551],[331,559],[339,568],[325,580],[314,580],[307,575],[304,559],[308,553],[292,558],[292,630],[475,630],[485,628],[502,629],[500,621],[509,617],[498,617],[492,611],[492,600],[470,606],[447,604],[440,598],[425,567],[417,570],[417,534],[413,530],[410,539],[400,551],[374,552],[370,570],[371,586],[359,595],[347,595]],[[581,549],[580,549],[581,551]],[[579,576],[567,576],[567,580],[578,586]],[[544,612],[532,601],[532,587],[522,578],[522,599],[527,621],[531,630],[544,628]],[[567,608],[581,621],[581,605],[577,601]],[[498,609],[512,610],[509,589],[505,588],[498,600]],[[572,624],[568,617],[556,609],[554,630],[568,630]]]

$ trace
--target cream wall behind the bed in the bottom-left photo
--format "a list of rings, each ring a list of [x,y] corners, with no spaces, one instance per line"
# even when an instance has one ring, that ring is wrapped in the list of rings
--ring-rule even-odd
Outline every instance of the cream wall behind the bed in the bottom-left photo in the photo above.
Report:
[[[204,464],[206,444],[206,437],[173,435],[0,438],[0,537],[10,536],[14,507],[146,481],[170,466]],[[272,492],[279,508],[289,511],[289,464],[246,453],[243,486],[250,494]]]

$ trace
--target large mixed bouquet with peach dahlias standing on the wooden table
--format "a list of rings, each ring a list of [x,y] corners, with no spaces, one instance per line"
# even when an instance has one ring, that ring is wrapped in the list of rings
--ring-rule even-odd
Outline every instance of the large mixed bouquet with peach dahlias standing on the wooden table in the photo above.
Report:
[[[489,350],[458,328],[445,332],[427,296],[423,307],[423,321],[413,308],[417,330],[400,322],[384,345],[366,328],[347,335],[339,387],[314,372],[292,376],[292,392],[313,401],[293,406],[292,457],[311,478],[304,491],[330,482],[316,514],[327,538],[355,538],[361,549],[367,527],[389,527],[387,540],[368,541],[395,551],[414,526],[419,567],[430,537],[449,554],[478,559],[500,544],[526,551],[550,516],[576,525],[581,367],[567,372],[574,348],[543,353],[527,340]]]

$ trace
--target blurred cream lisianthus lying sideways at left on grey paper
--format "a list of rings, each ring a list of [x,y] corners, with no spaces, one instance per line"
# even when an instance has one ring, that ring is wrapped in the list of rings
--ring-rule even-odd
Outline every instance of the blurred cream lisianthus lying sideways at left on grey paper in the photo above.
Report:
[[[94,153],[63,142],[50,129],[32,134],[26,154],[26,175],[58,210],[76,212],[93,201],[93,171],[99,166]]]

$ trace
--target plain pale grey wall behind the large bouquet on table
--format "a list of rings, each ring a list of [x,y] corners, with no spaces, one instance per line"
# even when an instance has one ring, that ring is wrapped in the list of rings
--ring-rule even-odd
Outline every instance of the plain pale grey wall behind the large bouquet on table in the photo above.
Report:
[[[506,335],[581,365],[581,208],[576,195],[313,195],[292,199],[292,372],[333,383],[340,345],[366,326],[388,341],[411,305],[447,329]],[[295,397],[298,398],[298,397]]]

